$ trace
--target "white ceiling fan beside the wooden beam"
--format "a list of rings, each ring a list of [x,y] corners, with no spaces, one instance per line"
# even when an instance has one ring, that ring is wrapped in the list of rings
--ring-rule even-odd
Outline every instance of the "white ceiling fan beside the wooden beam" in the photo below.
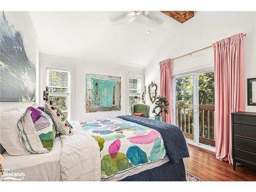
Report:
[[[130,11],[110,20],[111,22],[115,23],[115,22],[119,22],[120,20],[126,19],[128,20],[129,23],[131,23],[138,16],[146,17],[159,25],[161,25],[164,22],[164,20],[158,18],[150,11]]]

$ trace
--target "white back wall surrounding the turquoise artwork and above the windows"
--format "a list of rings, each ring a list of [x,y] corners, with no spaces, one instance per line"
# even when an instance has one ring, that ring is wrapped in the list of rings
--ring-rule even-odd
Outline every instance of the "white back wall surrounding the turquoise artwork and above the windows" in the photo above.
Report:
[[[110,118],[126,114],[127,101],[127,72],[143,73],[143,69],[120,67],[110,67],[108,61],[97,63],[89,60],[79,60],[68,57],[40,54],[40,84],[39,84],[39,103],[43,104],[42,92],[46,86],[46,67],[59,67],[71,69],[71,119],[84,120],[96,118]],[[85,94],[86,94],[86,73],[121,76],[121,111],[86,113]]]

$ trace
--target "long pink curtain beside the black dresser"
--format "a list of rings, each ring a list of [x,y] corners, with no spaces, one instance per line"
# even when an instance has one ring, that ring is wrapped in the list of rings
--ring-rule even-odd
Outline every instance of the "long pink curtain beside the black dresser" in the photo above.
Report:
[[[245,111],[243,35],[222,39],[213,48],[216,158],[232,163],[230,113]]]

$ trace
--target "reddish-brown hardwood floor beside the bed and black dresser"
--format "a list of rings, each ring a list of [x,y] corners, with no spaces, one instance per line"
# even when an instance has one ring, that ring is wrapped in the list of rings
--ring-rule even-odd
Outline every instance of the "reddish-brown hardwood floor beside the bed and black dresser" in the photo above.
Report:
[[[203,181],[256,181],[256,169],[238,165],[233,171],[231,164],[210,151],[189,144],[189,155],[183,159],[185,169]]]

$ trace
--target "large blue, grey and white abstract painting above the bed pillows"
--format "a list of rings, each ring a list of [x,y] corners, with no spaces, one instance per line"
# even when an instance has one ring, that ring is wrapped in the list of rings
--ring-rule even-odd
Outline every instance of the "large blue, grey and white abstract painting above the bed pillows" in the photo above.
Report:
[[[26,52],[22,32],[0,13],[0,101],[35,101],[36,67]]]

